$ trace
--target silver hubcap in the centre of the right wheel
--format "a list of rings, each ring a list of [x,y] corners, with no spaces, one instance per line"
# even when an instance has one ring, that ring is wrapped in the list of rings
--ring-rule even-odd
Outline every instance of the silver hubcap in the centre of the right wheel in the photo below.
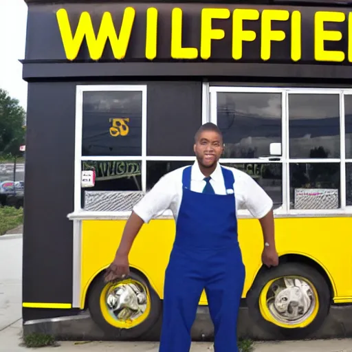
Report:
[[[316,307],[314,289],[303,278],[280,278],[270,285],[267,308],[283,324],[297,325],[307,320]]]

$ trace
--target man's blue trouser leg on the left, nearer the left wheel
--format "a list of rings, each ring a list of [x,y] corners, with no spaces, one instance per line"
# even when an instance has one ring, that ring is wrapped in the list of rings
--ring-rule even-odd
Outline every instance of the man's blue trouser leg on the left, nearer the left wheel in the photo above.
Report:
[[[189,253],[173,253],[164,283],[163,321],[159,352],[188,352],[190,329],[204,287],[201,265]],[[188,258],[187,258],[188,257]]]

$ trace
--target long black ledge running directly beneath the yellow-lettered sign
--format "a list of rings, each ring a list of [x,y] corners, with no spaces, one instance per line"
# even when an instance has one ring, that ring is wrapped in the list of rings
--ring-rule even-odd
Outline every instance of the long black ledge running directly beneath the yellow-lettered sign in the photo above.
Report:
[[[325,78],[326,80],[351,80],[351,66],[289,65],[258,63],[27,63],[23,65],[23,79],[37,78],[105,78],[105,77],[217,77],[228,80],[246,77],[276,78]]]

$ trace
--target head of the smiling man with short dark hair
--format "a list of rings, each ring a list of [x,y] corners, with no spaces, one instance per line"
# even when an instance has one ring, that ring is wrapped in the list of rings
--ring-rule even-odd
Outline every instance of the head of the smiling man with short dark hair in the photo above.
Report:
[[[197,160],[204,168],[212,168],[223,153],[223,136],[216,124],[208,122],[199,127],[193,146]]]

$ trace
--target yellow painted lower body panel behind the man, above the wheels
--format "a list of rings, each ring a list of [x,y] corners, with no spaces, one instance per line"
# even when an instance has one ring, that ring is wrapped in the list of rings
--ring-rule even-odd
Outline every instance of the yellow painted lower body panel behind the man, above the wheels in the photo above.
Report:
[[[107,267],[120,243],[126,221],[84,220],[82,225],[81,307],[94,277]],[[331,278],[336,301],[352,298],[352,218],[275,219],[278,254],[302,254],[319,263]],[[163,298],[164,272],[175,238],[175,222],[158,219],[143,225],[129,257]],[[256,219],[239,219],[239,242],[246,269],[243,297],[261,267],[263,237]],[[206,304],[203,293],[200,304]]]

